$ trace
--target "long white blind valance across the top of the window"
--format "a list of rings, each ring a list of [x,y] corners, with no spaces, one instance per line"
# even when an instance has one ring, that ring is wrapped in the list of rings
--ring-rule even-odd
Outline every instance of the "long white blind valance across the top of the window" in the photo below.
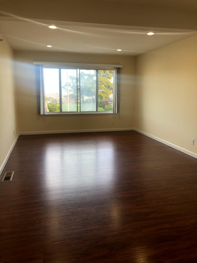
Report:
[[[33,65],[44,66],[65,66],[65,67],[84,67],[84,68],[122,68],[122,65],[113,64],[91,64],[91,63],[65,63],[65,62],[48,62],[48,61],[33,61]]]

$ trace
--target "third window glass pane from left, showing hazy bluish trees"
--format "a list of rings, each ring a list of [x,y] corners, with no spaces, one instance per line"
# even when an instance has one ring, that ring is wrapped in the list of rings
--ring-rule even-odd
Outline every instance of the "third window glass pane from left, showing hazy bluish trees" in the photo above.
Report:
[[[80,111],[96,111],[96,70],[80,69]]]

